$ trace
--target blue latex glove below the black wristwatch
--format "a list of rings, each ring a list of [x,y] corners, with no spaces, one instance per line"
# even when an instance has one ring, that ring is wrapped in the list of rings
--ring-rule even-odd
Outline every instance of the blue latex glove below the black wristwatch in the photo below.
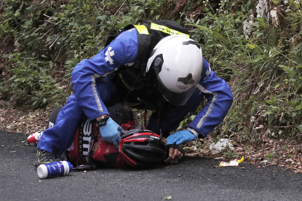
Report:
[[[120,127],[111,117],[107,120],[106,125],[99,127],[102,139],[113,143],[114,146],[118,149],[118,143],[122,138],[120,134],[124,134],[125,131]]]

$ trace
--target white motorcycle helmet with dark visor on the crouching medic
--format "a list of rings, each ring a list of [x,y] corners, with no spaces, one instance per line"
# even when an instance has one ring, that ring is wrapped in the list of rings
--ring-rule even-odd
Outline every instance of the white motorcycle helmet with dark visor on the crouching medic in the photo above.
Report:
[[[171,35],[161,39],[147,61],[155,70],[159,91],[173,105],[184,105],[193,94],[202,71],[201,47],[193,39]]]

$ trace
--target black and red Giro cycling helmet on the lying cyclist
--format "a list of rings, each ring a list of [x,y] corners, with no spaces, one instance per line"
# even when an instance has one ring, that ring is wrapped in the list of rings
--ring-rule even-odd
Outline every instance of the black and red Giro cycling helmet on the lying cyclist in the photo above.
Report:
[[[150,130],[133,129],[123,135],[119,151],[132,167],[151,168],[164,161],[167,148],[158,134]]]

